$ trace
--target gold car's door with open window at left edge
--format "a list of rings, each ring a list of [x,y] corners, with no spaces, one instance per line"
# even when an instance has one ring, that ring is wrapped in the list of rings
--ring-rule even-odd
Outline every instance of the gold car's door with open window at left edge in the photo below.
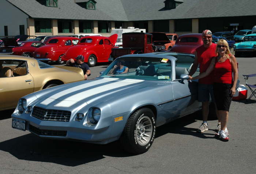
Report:
[[[8,62],[8,67],[17,67],[13,70],[13,77],[0,77],[0,103],[1,109],[15,107],[19,98],[34,91],[34,80],[28,72],[27,62]]]

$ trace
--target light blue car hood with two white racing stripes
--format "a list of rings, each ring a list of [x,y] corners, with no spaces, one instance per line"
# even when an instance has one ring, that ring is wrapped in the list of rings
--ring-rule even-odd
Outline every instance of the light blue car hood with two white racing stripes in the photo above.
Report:
[[[98,78],[71,84],[64,84],[46,90],[34,92],[39,99],[37,106],[46,108],[76,108],[80,105],[116,101],[121,95],[134,93],[138,90],[156,88],[157,81]]]

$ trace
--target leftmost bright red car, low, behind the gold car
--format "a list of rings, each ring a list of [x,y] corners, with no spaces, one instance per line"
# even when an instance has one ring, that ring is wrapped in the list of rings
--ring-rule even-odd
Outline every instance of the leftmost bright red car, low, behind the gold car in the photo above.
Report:
[[[12,54],[17,56],[33,57],[35,50],[45,44],[39,41],[18,42],[19,47],[12,48]]]

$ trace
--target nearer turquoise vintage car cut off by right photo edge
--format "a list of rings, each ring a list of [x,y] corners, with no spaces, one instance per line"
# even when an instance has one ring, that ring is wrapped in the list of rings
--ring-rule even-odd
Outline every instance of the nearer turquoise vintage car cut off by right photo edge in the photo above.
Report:
[[[238,57],[241,55],[241,53],[256,53],[256,34],[246,35],[243,42],[234,44],[233,48],[236,56]]]

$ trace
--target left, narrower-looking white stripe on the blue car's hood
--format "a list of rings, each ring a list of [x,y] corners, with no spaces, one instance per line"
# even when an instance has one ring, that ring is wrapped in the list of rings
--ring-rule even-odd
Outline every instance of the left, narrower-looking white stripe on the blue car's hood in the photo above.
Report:
[[[86,84],[80,84],[79,86],[75,86],[75,87],[69,88],[67,90],[64,90],[64,91],[58,92],[57,94],[52,95],[51,97],[42,101],[41,104],[49,105],[49,103],[53,102],[55,99],[58,99],[58,98],[60,98],[64,95],[67,95],[67,94],[71,93],[71,92],[82,90],[82,89],[85,89],[85,88],[88,88],[88,87],[91,87],[91,86],[94,86],[94,85],[97,85],[97,84],[111,82],[111,81],[114,81],[114,80],[117,80],[117,79],[118,78],[104,78],[104,79],[95,80],[93,82],[89,82],[89,83],[86,83]]]

